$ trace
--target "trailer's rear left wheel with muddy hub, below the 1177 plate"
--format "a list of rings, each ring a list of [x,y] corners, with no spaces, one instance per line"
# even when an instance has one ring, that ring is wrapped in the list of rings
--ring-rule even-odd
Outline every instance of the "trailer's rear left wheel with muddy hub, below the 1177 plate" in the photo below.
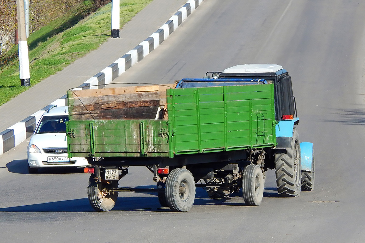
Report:
[[[112,181],[111,184],[106,182],[96,182],[91,175],[88,185],[88,199],[96,211],[110,211],[114,208],[118,199],[118,192],[111,192],[112,188],[118,187],[118,181]]]

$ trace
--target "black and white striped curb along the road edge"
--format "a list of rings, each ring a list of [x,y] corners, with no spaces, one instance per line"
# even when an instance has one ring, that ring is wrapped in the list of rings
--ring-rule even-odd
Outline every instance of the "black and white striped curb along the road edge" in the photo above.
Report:
[[[116,77],[125,72],[128,68],[142,60],[151,51],[156,49],[178,26],[203,2],[203,0],[189,0],[183,5],[170,19],[162,25],[157,31],[149,36],[146,40],[141,42],[138,46],[128,51],[125,55],[115,60],[108,67],[98,72],[93,77],[89,78],[85,83],[80,85],[75,90],[81,89],[100,89],[106,84],[111,83]],[[30,137],[31,133],[26,133],[27,126],[35,126],[43,113],[51,106],[65,106],[66,95],[55,100],[50,105],[44,107],[42,110],[30,115],[23,121],[5,129],[0,132],[0,154],[7,152],[20,144],[26,138]]]

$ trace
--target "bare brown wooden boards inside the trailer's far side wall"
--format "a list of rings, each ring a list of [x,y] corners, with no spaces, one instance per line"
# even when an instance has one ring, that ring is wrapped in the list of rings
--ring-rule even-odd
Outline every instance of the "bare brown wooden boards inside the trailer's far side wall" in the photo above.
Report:
[[[166,89],[172,86],[69,90],[69,119],[155,119],[166,105]],[[162,112],[157,117],[162,118]]]

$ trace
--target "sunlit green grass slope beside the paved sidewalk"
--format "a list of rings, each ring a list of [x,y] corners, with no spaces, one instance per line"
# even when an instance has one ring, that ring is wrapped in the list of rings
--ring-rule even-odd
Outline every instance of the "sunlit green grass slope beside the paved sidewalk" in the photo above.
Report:
[[[120,0],[120,27],[152,0]],[[28,38],[31,85],[61,71],[73,61],[97,49],[110,38],[111,3],[81,19],[91,8],[84,1],[76,14],[68,14],[51,21]],[[18,46],[14,46],[0,60],[0,105],[29,89],[20,86]]]

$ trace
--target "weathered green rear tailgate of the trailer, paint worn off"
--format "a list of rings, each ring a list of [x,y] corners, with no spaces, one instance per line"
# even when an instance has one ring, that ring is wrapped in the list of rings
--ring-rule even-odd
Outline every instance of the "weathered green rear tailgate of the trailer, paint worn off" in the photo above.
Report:
[[[70,157],[151,156],[169,153],[166,120],[70,120]]]

